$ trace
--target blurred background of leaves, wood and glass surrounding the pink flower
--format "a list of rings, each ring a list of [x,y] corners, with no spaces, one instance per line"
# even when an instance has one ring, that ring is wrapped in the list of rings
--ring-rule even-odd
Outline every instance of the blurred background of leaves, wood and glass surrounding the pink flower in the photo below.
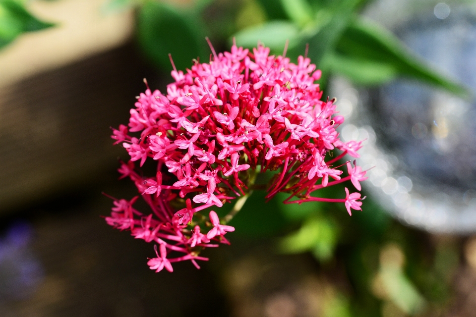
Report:
[[[156,274],[102,218],[101,192],[136,193],[110,127],[206,36],[308,46],[365,140],[367,199],[349,217],[255,192],[231,246]],[[0,0],[0,317],[476,316],[475,56],[470,0]]]

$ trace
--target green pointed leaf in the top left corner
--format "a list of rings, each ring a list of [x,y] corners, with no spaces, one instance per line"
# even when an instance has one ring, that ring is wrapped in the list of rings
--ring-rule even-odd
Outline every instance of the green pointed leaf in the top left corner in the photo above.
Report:
[[[54,25],[31,15],[19,1],[0,0],[0,48],[24,32],[39,31]]]

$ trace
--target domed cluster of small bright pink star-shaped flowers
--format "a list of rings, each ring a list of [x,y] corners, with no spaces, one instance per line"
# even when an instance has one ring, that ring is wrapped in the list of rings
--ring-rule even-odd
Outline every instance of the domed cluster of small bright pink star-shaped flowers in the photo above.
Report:
[[[149,88],[140,94],[128,126],[120,125],[112,136],[130,155],[119,168],[121,178],[135,183],[152,213],[133,208],[137,197],[121,199],[106,221],[158,243],[160,255],[156,247],[157,258],[148,262],[156,271],[172,271],[172,263],[184,260],[199,267],[196,260],[208,260],[199,256],[201,250],[228,243],[225,234],[235,228],[220,224],[215,211],[209,211],[210,221],[200,211],[245,195],[258,172],[275,171],[267,199],[286,192],[285,203],[341,202],[349,214],[361,210],[360,194],[347,188],[345,199],[310,196],[347,180],[360,190],[366,177],[355,163],[347,163],[349,176],[343,178],[332,165],[345,154],[358,157],[361,142],[339,140],[336,126],[344,118],[336,115],[334,100],[320,100],[315,81],[321,72],[309,58],[299,56],[294,64],[270,56],[263,46],[252,53],[236,45],[230,53],[212,52],[209,63],[195,62],[185,73],[174,66],[175,82],[166,95]],[[342,153],[331,157],[334,149]],[[153,162],[155,177],[143,177],[135,161]]]

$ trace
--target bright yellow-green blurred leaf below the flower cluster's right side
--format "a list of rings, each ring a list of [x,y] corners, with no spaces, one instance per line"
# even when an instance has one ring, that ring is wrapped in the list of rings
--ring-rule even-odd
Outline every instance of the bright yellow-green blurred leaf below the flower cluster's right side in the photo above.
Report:
[[[337,243],[337,226],[328,217],[311,216],[301,228],[284,237],[279,248],[284,253],[311,251],[320,260],[332,257]]]

